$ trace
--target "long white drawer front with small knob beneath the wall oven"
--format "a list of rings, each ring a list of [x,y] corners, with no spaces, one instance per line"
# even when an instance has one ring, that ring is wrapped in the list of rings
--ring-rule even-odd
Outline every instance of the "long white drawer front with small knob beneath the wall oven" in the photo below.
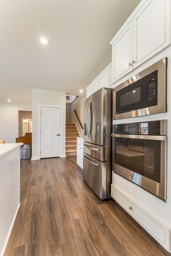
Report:
[[[170,228],[145,208],[111,184],[111,197],[122,206],[154,239],[170,251]]]

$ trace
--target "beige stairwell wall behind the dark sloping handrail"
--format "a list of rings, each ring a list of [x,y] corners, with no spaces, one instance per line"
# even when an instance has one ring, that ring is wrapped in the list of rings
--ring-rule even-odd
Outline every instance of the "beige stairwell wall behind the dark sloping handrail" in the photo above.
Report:
[[[80,122],[84,127],[84,101],[85,100],[86,100],[86,97],[79,96],[75,99],[75,101],[72,102],[72,105],[71,105],[71,123],[76,123],[80,137],[83,137],[83,129],[81,128],[81,125],[76,117],[74,110],[76,109],[77,116],[79,117]]]

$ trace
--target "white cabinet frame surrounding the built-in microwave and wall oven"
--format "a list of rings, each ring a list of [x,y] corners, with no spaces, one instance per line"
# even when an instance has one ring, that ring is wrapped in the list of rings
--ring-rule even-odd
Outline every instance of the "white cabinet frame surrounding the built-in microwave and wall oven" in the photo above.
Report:
[[[117,174],[113,175],[112,183],[118,187],[120,190],[125,192],[129,197],[133,200],[138,202],[138,204],[142,205],[147,211],[152,213],[156,216],[159,220],[163,223],[168,225],[171,228],[171,46],[160,54],[156,55],[154,58],[150,59],[148,62],[143,64],[141,67],[137,68],[135,71],[131,72],[129,75],[122,78],[120,81],[116,82],[113,87],[119,85],[120,83],[126,81],[133,75],[137,74],[138,72],[144,70],[145,68],[149,67],[153,63],[157,62],[158,60],[168,57],[168,68],[167,68],[167,104],[168,104],[168,112],[161,113],[161,114],[154,114],[149,116],[142,116],[142,117],[134,117],[124,120],[114,120],[113,124],[119,123],[131,123],[135,121],[150,121],[150,120],[161,120],[167,119],[168,120],[168,151],[167,151],[167,199],[166,203],[158,199],[157,197],[152,196],[151,194],[147,193],[146,191],[138,188],[137,186],[133,185],[131,182],[127,181],[126,179],[120,177]]]

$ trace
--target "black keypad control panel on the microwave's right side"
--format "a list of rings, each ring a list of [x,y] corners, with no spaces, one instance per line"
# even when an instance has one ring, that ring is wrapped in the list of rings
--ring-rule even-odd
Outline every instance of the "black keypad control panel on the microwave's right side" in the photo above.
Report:
[[[157,70],[147,76],[147,106],[157,105]]]

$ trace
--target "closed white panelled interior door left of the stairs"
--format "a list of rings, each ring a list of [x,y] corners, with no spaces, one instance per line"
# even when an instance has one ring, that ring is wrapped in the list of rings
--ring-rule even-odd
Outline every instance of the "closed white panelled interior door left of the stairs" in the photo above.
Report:
[[[40,158],[60,156],[61,109],[41,107]]]

